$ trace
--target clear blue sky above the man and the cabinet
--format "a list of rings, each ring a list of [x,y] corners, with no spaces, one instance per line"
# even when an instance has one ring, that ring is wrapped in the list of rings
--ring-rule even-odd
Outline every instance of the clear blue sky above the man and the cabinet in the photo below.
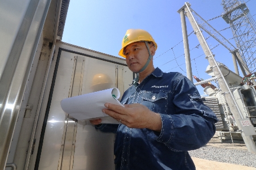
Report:
[[[177,13],[185,2],[181,0],[71,0],[62,41],[119,57],[118,52],[126,30],[145,29],[151,33],[158,44],[154,66],[166,72],[178,71],[186,75],[185,59],[182,56],[184,54],[183,42],[180,42],[183,40],[180,14]],[[205,20],[220,16],[224,12],[221,2],[221,0],[189,1],[191,8]],[[245,2],[247,2],[250,14],[256,14],[256,1]],[[253,18],[256,20],[256,15]],[[191,33],[191,24],[187,18],[186,20],[188,33]],[[218,31],[229,27],[229,24],[221,17],[210,20],[209,24]],[[207,33],[203,32],[203,34],[208,37]],[[233,37],[230,28],[221,31],[221,34],[226,39]],[[192,33],[188,40],[189,48],[193,49],[191,50],[193,75],[203,79],[211,78],[205,73],[209,63],[205,55],[201,56],[204,54],[201,46],[195,48],[199,44],[195,34]],[[210,48],[218,44],[212,37],[207,42]],[[236,45],[233,40],[230,42]],[[224,46],[218,45],[212,52],[215,54],[216,61],[224,63],[234,71],[232,56]],[[200,94],[203,94],[203,88],[199,86],[197,88]]]

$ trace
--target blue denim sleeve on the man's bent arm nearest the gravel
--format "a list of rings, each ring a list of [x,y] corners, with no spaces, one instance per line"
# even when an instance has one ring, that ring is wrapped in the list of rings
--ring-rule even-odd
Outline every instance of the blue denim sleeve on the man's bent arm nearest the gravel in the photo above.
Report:
[[[161,114],[162,130],[157,141],[173,151],[195,150],[213,137],[218,121],[216,115],[203,103],[195,85],[181,75],[177,79],[174,96],[174,114]]]

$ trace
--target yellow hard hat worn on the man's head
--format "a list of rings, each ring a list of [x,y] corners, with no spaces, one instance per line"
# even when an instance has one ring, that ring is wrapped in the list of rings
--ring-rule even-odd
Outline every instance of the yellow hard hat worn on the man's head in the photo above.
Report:
[[[155,40],[147,31],[143,29],[128,29],[126,31],[125,37],[123,37],[122,49],[118,53],[119,56],[125,57],[125,55],[123,54],[123,48],[125,48],[127,45],[133,42],[138,42],[138,41],[151,41],[155,45],[155,50],[158,48],[158,45],[156,44]]]

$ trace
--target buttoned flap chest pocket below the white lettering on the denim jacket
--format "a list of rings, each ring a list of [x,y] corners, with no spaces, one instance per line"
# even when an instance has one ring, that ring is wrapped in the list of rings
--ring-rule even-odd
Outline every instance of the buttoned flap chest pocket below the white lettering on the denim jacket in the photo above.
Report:
[[[167,112],[167,92],[144,92],[142,95],[142,103],[150,111],[155,113]]]

